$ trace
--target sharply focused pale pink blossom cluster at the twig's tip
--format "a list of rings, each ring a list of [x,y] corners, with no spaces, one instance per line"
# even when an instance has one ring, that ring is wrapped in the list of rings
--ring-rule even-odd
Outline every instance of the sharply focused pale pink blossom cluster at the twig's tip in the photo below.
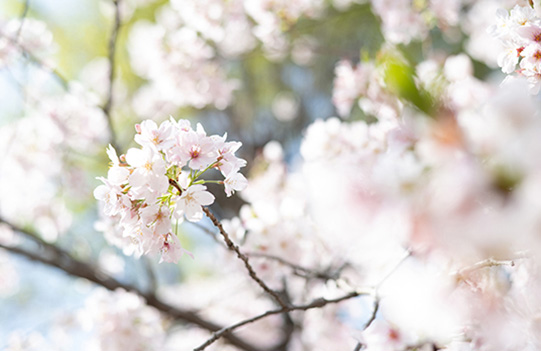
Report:
[[[241,143],[226,141],[226,135],[208,136],[200,124],[194,130],[189,121],[172,118],[160,126],[145,120],[136,130],[140,148],[120,157],[113,147],[107,149],[111,167],[107,178],[99,178],[103,184],[94,196],[102,201],[103,213],[118,220],[121,233],[115,244],[137,255],[161,253],[161,261],[177,262],[186,251],[172,227],[184,218],[202,219],[203,206],[214,202],[204,184],[223,184],[227,196],[247,185],[239,173],[246,161],[235,156]],[[202,179],[211,169],[225,179]]]

